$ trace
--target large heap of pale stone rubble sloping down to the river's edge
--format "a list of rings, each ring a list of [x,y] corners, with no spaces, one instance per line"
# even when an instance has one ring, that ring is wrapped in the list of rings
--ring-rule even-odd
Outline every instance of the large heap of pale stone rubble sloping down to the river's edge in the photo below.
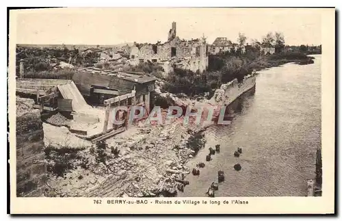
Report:
[[[188,184],[185,164],[194,156],[188,138],[177,124],[131,128],[103,149],[93,145],[74,153],[69,172],[49,177],[46,196],[176,196]]]

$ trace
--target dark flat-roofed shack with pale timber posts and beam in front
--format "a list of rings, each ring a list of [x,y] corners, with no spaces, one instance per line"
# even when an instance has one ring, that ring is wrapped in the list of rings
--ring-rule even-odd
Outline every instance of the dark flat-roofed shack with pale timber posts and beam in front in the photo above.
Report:
[[[155,90],[155,80],[155,77],[148,77],[144,73],[123,73],[98,68],[81,68],[73,75],[73,81],[83,96],[88,97],[91,103],[106,106],[103,133],[110,128],[118,129],[112,124],[114,117],[127,119],[127,112],[109,116],[116,106],[130,108],[132,105],[140,105],[146,109],[146,114],[150,112],[150,92]]]

